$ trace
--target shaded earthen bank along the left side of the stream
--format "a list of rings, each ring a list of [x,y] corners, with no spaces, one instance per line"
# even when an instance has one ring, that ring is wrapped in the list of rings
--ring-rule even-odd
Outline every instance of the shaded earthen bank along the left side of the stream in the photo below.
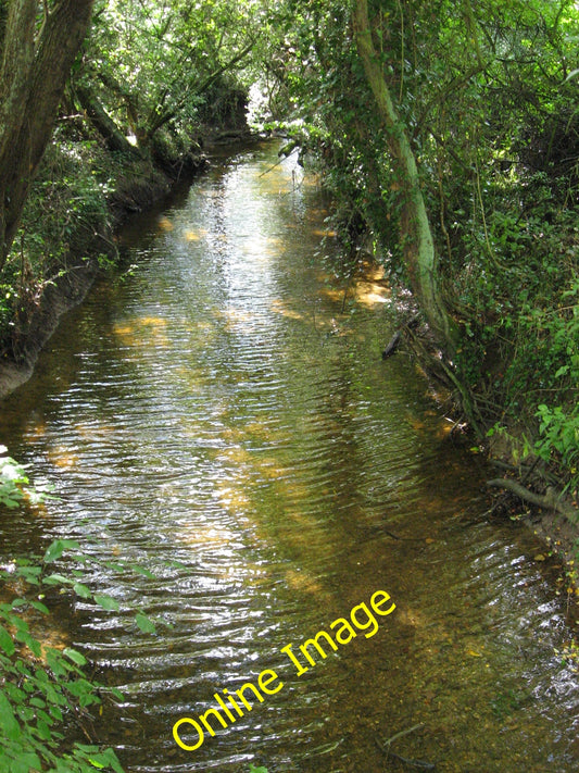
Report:
[[[124,158],[97,144],[81,151],[81,179],[72,183],[71,170],[61,166],[62,138],[55,139],[30,196],[21,253],[15,250],[12,259],[14,271],[0,283],[8,300],[0,308],[0,400],[30,377],[61,316],[85,299],[99,273],[117,264],[119,226],[162,201],[176,185],[192,182],[207,167],[212,148],[252,139],[249,127],[206,127],[180,154],[158,151]],[[87,190],[91,177],[98,184]],[[85,199],[71,213],[77,194]]]

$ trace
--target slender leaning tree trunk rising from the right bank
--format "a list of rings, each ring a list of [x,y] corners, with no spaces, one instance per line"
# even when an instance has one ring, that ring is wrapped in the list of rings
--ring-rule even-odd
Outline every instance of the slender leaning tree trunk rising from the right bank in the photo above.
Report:
[[[435,242],[420,190],[416,160],[372,40],[367,0],[355,0],[352,21],[357,52],[386,128],[388,148],[399,178],[402,196],[401,240],[412,289],[439,342],[452,356],[456,347],[457,329],[441,299]]]

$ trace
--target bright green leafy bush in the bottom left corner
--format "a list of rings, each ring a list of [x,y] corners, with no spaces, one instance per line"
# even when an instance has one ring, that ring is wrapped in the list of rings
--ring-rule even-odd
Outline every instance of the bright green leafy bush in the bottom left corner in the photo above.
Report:
[[[123,769],[112,749],[75,744],[64,748],[63,727],[71,716],[86,715],[101,703],[104,686],[87,678],[87,660],[70,647],[58,649],[42,643],[35,633],[38,614],[50,611],[43,603],[47,591],[65,585],[79,596],[92,596],[87,586],[52,571],[51,564],[64,550],[78,548],[74,540],[56,540],[42,560],[21,558],[0,568],[4,586],[0,602],[0,770],[29,773],[95,773]],[[101,606],[106,606],[106,599]],[[115,698],[122,695],[111,689]]]

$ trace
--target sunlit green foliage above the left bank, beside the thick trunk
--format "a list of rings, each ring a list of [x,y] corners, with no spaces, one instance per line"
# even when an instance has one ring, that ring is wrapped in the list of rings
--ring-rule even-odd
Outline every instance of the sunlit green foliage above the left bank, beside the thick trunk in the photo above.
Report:
[[[49,5],[39,7],[39,26]],[[140,205],[134,194],[143,176],[151,180],[153,169],[180,174],[200,151],[206,126],[243,128],[250,54],[266,18],[265,0],[95,2],[56,129],[5,262],[2,257],[1,354],[18,359],[43,290],[71,270],[71,258],[77,263],[89,247],[91,254],[106,250],[116,204]],[[98,260],[105,267],[114,262]]]

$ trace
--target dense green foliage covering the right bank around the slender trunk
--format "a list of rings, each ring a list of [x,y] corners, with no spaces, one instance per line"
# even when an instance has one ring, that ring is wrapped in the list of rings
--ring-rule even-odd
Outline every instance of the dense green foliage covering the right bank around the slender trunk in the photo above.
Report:
[[[519,453],[539,453],[568,482],[579,387],[579,13],[544,0],[368,8],[418,163],[443,301],[461,329],[452,366],[467,410],[482,428],[503,416],[513,437],[528,436]],[[350,9],[277,4],[270,57],[288,92],[281,117],[315,127],[303,146],[335,196],[344,269],[372,245],[391,280],[407,285],[401,180]],[[542,434],[538,404],[558,407],[543,412]]]

